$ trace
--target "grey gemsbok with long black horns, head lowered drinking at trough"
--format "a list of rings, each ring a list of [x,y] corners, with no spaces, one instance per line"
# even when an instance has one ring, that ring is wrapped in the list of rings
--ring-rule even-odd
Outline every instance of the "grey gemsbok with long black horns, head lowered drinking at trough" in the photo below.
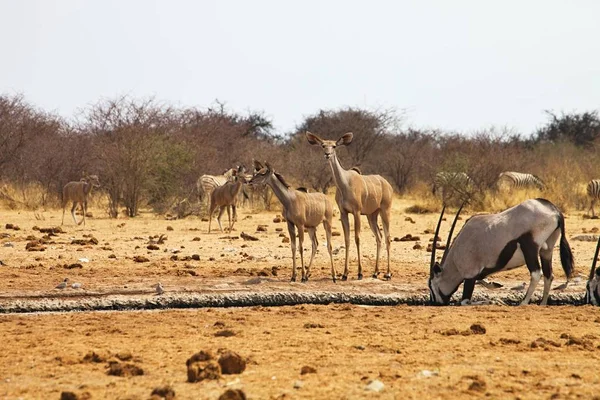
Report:
[[[439,234],[444,209],[445,206],[434,238]],[[543,273],[541,305],[546,305],[553,279],[552,250],[559,235],[560,261],[567,281],[571,277],[573,253],[565,235],[564,217],[548,200],[530,199],[498,214],[475,215],[465,223],[450,245],[461,210],[462,206],[450,228],[440,263],[435,261],[436,244],[433,244],[428,281],[431,303],[448,304],[464,282],[461,304],[468,304],[476,280],[525,264],[531,280],[521,304],[529,303]]]

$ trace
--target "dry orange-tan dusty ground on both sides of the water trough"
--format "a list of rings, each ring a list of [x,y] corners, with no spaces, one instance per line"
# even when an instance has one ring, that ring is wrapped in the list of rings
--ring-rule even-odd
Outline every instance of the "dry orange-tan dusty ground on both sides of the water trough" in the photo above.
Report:
[[[65,233],[35,245],[44,251],[28,251],[26,245],[43,236],[35,226],[59,225],[60,212],[45,212],[44,220],[36,220],[30,212],[0,211],[0,261],[4,264],[0,265],[0,310],[12,310],[15,302],[27,306],[50,299],[66,304],[115,296],[158,306],[163,298],[205,294],[426,296],[430,253],[425,248],[433,234],[424,232],[435,228],[437,216],[406,214],[404,209],[409,205],[412,203],[396,200],[392,235],[419,236],[422,249],[413,249],[417,243],[414,241],[393,242],[392,280],[357,281],[352,243],[350,280],[337,284],[331,282],[322,229],[311,280],[306,284],[289,282],[289,244],[282,243],[283,237],[276,231],[281,228],[287,236],[287,227],[273,222],[276,211],[250,213],[242,209],[231,235],[209,235],[208,222],[197,218],[166,221],[144,214],[135,219],[110,220],[100,210],[92,210],[96,218],[89,218],[86,227],[69,221],[63,226]],[[465,214],[458,228],[467,217]],[[449,221],[443,225],[442,237]],[[600,222],[583,219],[581,214],[568,215],[566,221],[569,238],[600,227]],[[5,229],[7,223],[20,230]],[[257,232],[258,225],[267,225],[266,232]],[[334,230],[341,233],[337,219]],[[239,238],[241,232],[258,241]],[[149,250],[147,247],[153,244],[149,237],[161,234],[166,236],[164,243],[155,244],[157,250]],[[88,243],[73,244],[74,240]],[[584,293],[595,243],[570,243],[580,276],[565,291],[553,290],[551,298]],[[343,237],[335,236],[338,274],[343,271],[342,245]],[[308,238],[304,247],[307,260]],[[365,219],[361,249],[364,274],[370,276],[375,242]],[[385,266],[385,251],[382,256]],[[136,262],[136,257],[148,261]],[[553,287],[564,282],[558,254],[555,260]],[[82,287],[54,289],[65,277]],[[493,293],[519,296],[523,292],[510,288],[528,282],[529,276],[523,267],[493,279],[504,284]],[[160,296],[152,289],[159,281],[166,291]],[[480,286],[475,292],[492,293]],[[241,388],[249,398],[256,399],[465,395],[590,398],[600,388],[595,368],[599,323],[600,311],[587,306],[432,308],[342,304],[6,314],[0,315],[0,332],[8,344],[0,352],[0,397],[59,398],[62,391],[73,391],[89,392],[92,398],[149,398],[155,387],[170,384],[177,398],[182,399],[215,399],[230,387]],[[483,325],[486,332],[474,334],[470,330],[473,324]],[[231,330],[234,335],[215,336],[222,330]],[[216,353],[218,349],[247,357],[246,371],[218,381],[187,383],[185,361],[199,350]],[[99,355],[100,362],[84,361],[92,351]],[[127,362],[142,368],[143,375],[106,374],[108,362],[125,353],[130,354],[125,357]],[[314,367],[317,372],[301,375],[303,366]],[[385,385],[379,394],[365,391],[374,379]],[[295,389],[295,384],[302,387]]]

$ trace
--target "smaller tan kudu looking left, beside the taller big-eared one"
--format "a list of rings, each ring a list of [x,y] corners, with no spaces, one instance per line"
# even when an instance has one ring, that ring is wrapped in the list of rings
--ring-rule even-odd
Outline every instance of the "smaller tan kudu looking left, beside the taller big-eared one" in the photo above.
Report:
[[[283,205],[283,216],[288,224],[290,245],[292,247],[292,282],[296,281],[296,228],[298,229],[298,245],[300,246],[300,264],[302,265],[302,282],[308,281],[310,267],[317,251],[317,226],[323,223],[327,236],[327,251],[331,262],[331,276],[336,280],[336,271],[333,266],[333,253],[331,248],[331,222],[333,219],[333,205],[323,193],[307,193],[302,190],[290,188],[283,177],[276,173],[269,163],[263,166],[254,161],[254,176],[250,185],[267,184]],[[304,269],[304,228],[312,241],[312,252],[308,267]]]

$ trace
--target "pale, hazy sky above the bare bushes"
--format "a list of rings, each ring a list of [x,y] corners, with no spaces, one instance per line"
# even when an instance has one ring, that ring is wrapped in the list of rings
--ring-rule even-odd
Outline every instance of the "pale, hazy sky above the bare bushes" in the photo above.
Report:
[[[0,93],[70,117],[101,97],[320,108],[528,134],[543,110],[600,108],[597,1],[0,0]]]

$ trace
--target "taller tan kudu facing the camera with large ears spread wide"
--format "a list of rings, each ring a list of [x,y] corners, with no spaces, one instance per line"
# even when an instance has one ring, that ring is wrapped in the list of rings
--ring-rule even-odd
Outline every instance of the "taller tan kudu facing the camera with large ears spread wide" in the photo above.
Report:
[[[306,132],[308,143],[320,145],[325,153],[325,159],[329,161],[333,179],[337,187],[335,200],[340,208],[342,227],[344,228],[344,242],[346,246],[346,262],[342,280],[348,279],[348,249],[350,247],[350,222],[348,214],[354,216],[354,241],[358,257],[358,279],[362,279],[362,263],[360,257],[360,216],[366,215],[369,226],[377,241],[377,258],[375,261],[375,273],[373,278],[379,275],[379,254],[381,252],[381,232],[377,225],[377,217],[381,214],[383,233],[387,248],[387,273],[385,279],[391,279],[390,272],[390,212],[392,210],[392,199],[394,190],[388,181],[380,175],[361,175],[356,170],[346,170],[340,164],[335,153],[337,146],[349,145],[352,142],[352,133],[346,133],[338,140],[323,140],[317,135]]]

